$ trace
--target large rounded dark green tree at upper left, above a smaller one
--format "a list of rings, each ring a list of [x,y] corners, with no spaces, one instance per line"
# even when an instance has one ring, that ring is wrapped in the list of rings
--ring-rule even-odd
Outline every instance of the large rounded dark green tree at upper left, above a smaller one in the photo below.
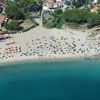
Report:
[[[10,4],[5,8],[7,16],[11,19],[23,19],[24,15],[16,4]]]

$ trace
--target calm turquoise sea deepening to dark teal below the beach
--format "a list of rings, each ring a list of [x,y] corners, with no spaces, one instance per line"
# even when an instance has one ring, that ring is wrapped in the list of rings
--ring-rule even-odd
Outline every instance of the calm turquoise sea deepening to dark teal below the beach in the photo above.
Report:
[[[100,100],[100,61],[1,67],[0,100]]]

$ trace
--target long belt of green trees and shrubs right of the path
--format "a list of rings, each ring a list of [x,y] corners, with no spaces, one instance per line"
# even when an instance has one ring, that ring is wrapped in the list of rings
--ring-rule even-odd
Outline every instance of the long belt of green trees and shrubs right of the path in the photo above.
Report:
[[[62,26],[66,23],[67,25],[87,25],[88,28],[94,27],[100,24],[100,10],[98,13],[91,13],[87,9],[66,9],[64,12],[62,11],[54,11],[51,13],[53,18],[48,20],[46,25],[50,28],[62,28]],[[45,21],[46,22],[46,21]]]

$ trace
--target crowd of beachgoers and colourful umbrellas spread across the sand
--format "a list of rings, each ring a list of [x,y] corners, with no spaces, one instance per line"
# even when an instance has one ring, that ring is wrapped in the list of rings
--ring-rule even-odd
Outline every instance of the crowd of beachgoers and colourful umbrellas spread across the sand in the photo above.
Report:
[[[82,41],[78,37],[67,35],[50,35],[26,41],[24,45],[16,41],[4,42],[0,47],[0,60],[19,57],[55,58],[56,56],[100,54],[100,41],[95,43]],[[91,52],[92,51],[92,52]]]

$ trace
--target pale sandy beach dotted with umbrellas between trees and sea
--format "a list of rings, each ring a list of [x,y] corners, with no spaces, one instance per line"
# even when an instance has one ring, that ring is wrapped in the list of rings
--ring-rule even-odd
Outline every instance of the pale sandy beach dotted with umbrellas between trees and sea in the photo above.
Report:
[[[84,58],[99,54],[100,45],[87,42],[89,30],[46,29],[41,26],[0,41],[0,63]],[[92,47],[92,48],[91,48]]]

